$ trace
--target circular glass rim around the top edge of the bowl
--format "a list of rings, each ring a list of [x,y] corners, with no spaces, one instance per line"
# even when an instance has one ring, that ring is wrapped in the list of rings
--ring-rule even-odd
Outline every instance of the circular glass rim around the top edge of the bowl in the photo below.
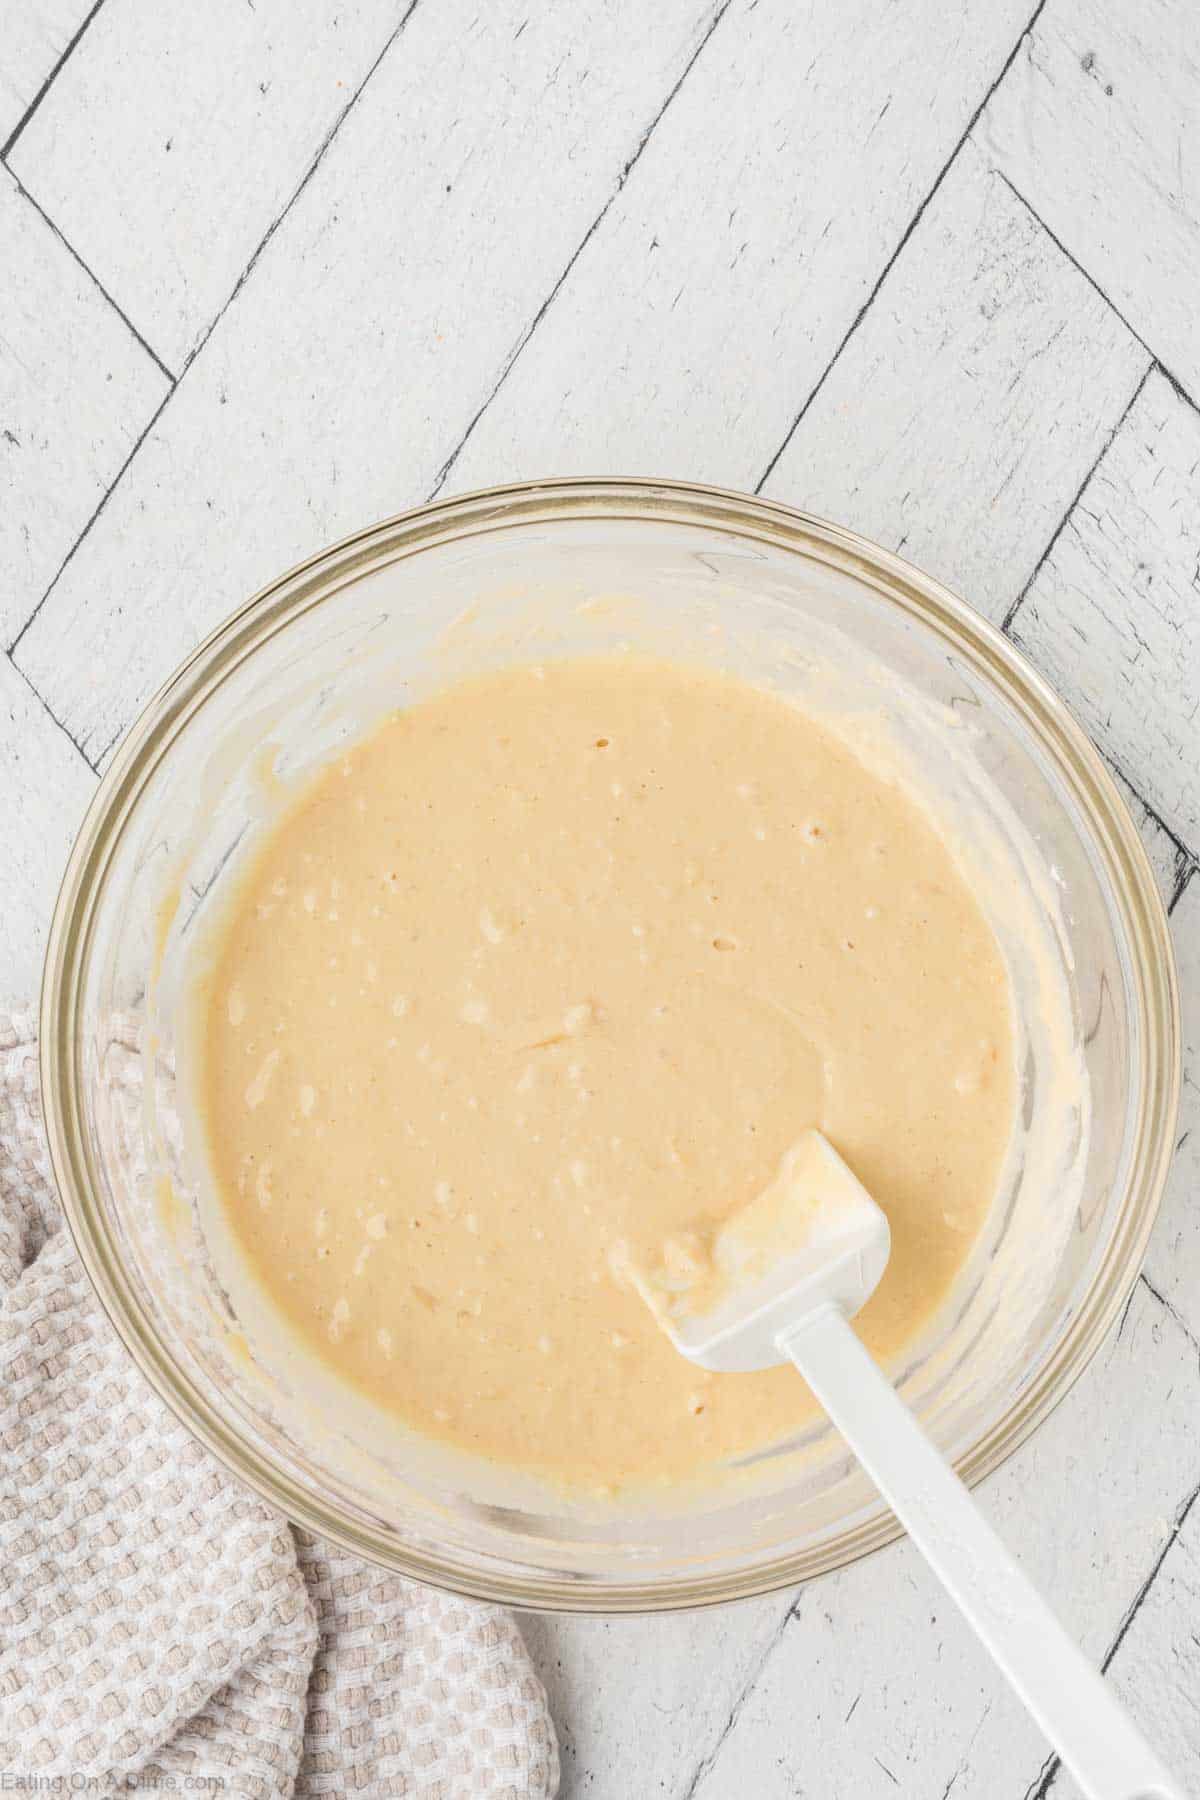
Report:
[[[117,1336],[175,1417],[234,1474],[288,1519],[340,1548],[428,1586],[471,1598],[563,1613],[649,1613],[714,1606],[790,1588],[844,1568],[896,1537],[883,1503],[833,1537],[748,1570],[658,1580],[579,1580],[551,1571],[464,1562],[385,1535],[326,1507],[261,1454],[175,1363],[122,1267],[104,1211],[94,1199],[83,1123],[83,1035],[74,1030],[104,869],[139,794],[205,693],[254,648],[300,612],[369,567],[480,531],[534,518],[637,518],[730,529],[775,547],[822,553],[966,657],[1018,715],[1022,727],[1065,779],[1121,913],[1132,958],[1137,1089],[1141,1107],[1126,1157],[1114,1229],[1081,1305],[1027,1388],[973,1442],[955,1467],[973,1485],[991,1474],[1049,1417],[1079,1379],[1124,1307],[1146,1253],[1173,1145],[1180,1089],[1180,1012],[1168,916],[1146,850],[1099,751],[1027,657],[941,581],[846,526],[759,495],[662,477],[554,477],[435,499],[365,526],[315,551],[259,589],[218,625],[122,734],[92,797],[63,875],[41,981],[40,1073],[50,1163],[63,1213],[92,1287]]]

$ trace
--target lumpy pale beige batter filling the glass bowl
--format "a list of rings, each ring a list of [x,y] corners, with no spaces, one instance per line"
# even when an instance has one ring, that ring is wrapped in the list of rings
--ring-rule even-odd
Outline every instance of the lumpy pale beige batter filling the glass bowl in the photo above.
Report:
[[[781,698],[594,659],[425,700],[302,796],[237,895],[203,1082],[236,1237],[329,1366],[426,1435],[617,1487],[811,1406],[790,1368],[687,1364],[622,1256],[819,1125],[891,1220],[860,1319],[891,1355],[995,1195],[1011,999],[900,788]]]

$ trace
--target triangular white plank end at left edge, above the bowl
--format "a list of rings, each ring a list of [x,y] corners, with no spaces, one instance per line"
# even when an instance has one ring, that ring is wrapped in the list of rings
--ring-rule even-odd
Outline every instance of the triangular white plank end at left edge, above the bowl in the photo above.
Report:
[[[0,169],[0,643],[45,592],[167,380]]]

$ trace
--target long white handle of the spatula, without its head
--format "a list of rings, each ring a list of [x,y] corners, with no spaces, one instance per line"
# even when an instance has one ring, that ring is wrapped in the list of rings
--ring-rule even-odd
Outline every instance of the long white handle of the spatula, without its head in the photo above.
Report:
[[[840,1309],[819,1307],[777,1343],[1088,1800],[1186,1800]]]

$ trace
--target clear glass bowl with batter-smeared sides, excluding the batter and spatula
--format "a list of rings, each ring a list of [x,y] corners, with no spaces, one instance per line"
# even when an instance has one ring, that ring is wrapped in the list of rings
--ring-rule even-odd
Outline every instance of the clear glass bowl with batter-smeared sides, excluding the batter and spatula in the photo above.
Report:
[[[817,662],[876,671],[882,711],[914,697],[964,772],[959,797],[1024,846],[1000,923],[1051,945],[1090,1096],[1063,1157],[1078,1181],[1011,1174],[954,1307],[892,1370],[977,1481],[1063,1397],[1133,1285],[1173,1143],[1178,1006],[1162,904],[1099,756],[999,632],[898,556],[775,502],[662,481],[498,488],[362,531],[248,601],[146,707],[79,832],[47,952],[50,1154],[83,1262],[149,1382],[288,1517],[524,1607],[741,1598],[898,1526],[820,1424],[716,1492],[604,1510],[493,1492],[365,1429],[336,1395],[295,1391],[207,1235],[182,1098],[187,963],[272,794],[423,686],[515,657],[684,644],[783,686]],[[1049,1116],[1049,1080],[1025,1044],[1025,1123]]]

